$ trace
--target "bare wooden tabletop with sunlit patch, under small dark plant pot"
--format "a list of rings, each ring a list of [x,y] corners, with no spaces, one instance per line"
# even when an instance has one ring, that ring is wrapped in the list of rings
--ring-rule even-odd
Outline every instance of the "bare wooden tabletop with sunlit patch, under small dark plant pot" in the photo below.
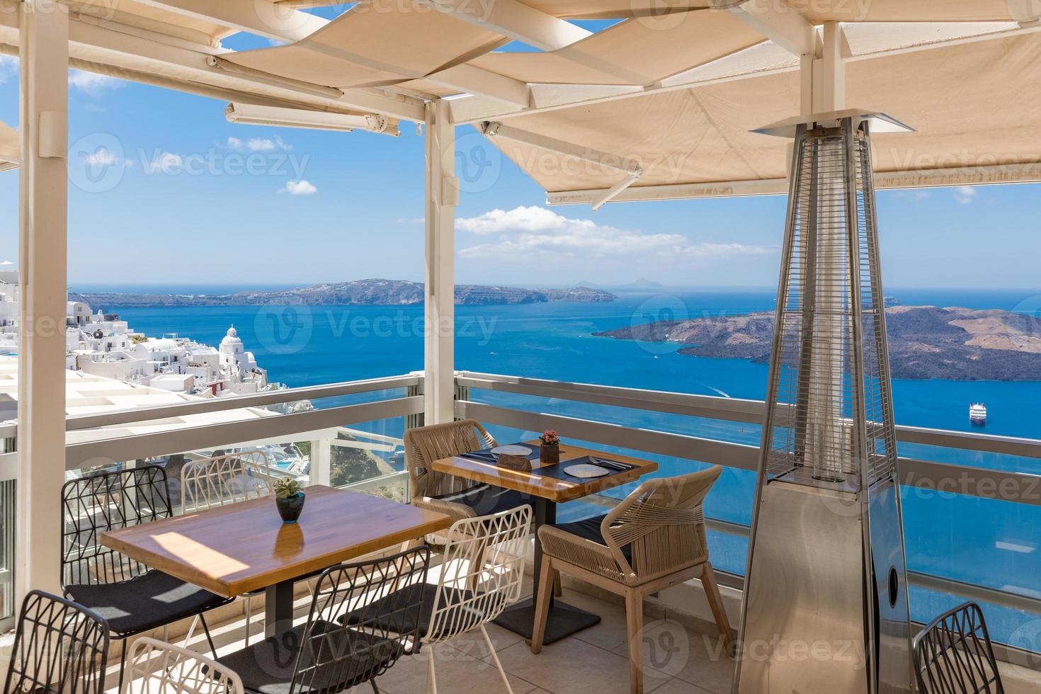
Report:
[[[452,524],[443,514],[367,494],[325,486],[304,491],[296,523],[282,522],[274,497],[257,498],[104,533],[101,543],[230,597]]]

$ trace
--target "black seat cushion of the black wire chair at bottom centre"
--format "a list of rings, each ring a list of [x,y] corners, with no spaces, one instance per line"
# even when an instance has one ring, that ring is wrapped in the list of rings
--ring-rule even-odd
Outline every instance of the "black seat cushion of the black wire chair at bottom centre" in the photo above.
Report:
[[[217,662],[237,672],[248,692],[289,694],[298,656],[302,656],[301,670],[312,665],[312,649],[301,649],[305,628],[305,624],[298,624],[279,636],[222,656]],[[291,694],[345,691],[383,672],[404,650],[398,641],[323,620],[314,622],[311,640],[323,664],[302,672]]]

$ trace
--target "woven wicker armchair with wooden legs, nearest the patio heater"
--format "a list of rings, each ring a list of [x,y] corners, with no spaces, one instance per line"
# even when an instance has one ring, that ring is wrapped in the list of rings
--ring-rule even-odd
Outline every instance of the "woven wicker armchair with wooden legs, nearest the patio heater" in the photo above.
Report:
[[[542,649],[549,590],[560,571],[625,596],[633,694],[643,691],[644,595],[700,577],[719,635],[731,650],[734,633],[709,563],[702,515],[702,503],[721,471],[716,465],[677,478],[649,480],[604,516],[540,528],[544,554],[532,652]]]

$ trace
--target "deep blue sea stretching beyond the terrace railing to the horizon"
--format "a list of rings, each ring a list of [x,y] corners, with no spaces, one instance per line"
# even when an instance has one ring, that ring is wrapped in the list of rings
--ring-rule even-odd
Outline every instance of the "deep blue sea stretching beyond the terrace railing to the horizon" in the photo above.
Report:
[[[251,287],[252,288],[252,287]],[[268,287],[265,287],[268,288]],[[108,287],[112,290],[127,288]],[[208,289],[208,291],[207,291]],[[238,288],[236,288],[238,289]],[[143,290],[138,288],[137,290]],[[155,290],[154,288],[151,290]],[[215,293],[228,288],[164,288]],[[618,292],[616,292],[618,293]],[[904,305],[963,306],[1030,312],[1041,310],[1041,290],[894,289]],[[108,307],[94,307],[108,310]],[[456,308],[456,367],[472,371],[763,400],[767,367],[737,359],[677,354],[676,346],[595,337],[592,333],[654,319],[771,311],[775,291],[667,290],[619,293],[611,303],[550,303]],[[423,368],[422,306],[193,307],[115,309],[130,327],[149,335],[177,333],[217,344],[234,325],[273,381],[307,386],[405,374]],[[1041,438],[1041,374],[1038,381],[895,381],[899,425]],[[612,421],[629,427],[691,434],[758,445],[759,428],[677,415],[634,412],[544,399],[475,391],[475,400],[505,407]],[[984,402],[982,430],[968,420],[970,402]],[[329,403],[316,403],[319,406]],[[338,404],[338,402],[337,402]],[[360,428],[400,436],[403,422]],[[501,441],[530,432],[493,432]],[[566,432],[561,432],[566,437]],[[904,445],[902,455],[962,465],[1041,472],[1032,459]],[[633,452],[634,455],[640,455]],[[689,471],[689,460],[655,457],[661,474]],[[715,518],[751,521],[751,473],[728,469],[706,505]],[[619,490],[624,493],[625,490]],[[905,488],[909,568],[932,575],[1041,597],[1041,506],[980,499],[947,491]],[[562,515],[588,513],[577,504]],[[712,534],[713,563],[743,573],[746,541]],[[957,598],[915,589],[915,618],[924,620]],[[1041,650],[1039,615],[991,607],[988,621],[1006,642]]]

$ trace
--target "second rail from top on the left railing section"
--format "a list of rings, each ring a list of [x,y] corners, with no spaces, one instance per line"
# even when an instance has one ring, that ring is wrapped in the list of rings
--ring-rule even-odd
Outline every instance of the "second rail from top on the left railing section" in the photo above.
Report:
[[[127,461],[199,448],[233,445],[240,441],[291,437],[321,429],[362,421],[378,421],[423,411],[423,397],[345,405],[323,410],[279,414],[261,419],[232,421],[203,427],[139,434],[119,438],[71,443],[66,446],[66,467],[76,469],[87,461]],[[97,464],[101,464],[98,462]]]

